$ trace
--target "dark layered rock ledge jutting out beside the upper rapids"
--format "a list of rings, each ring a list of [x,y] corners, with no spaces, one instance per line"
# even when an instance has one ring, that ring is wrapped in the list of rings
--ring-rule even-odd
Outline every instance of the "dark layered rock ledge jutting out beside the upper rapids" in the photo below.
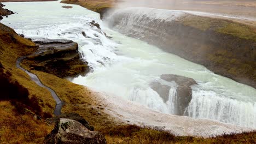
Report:
[[[44,71],[64,78],[85,75],[89,72],[86,62],[80,59],[78,44],[72,40],[34,40],[38,50],[25,61],[32,70]]]

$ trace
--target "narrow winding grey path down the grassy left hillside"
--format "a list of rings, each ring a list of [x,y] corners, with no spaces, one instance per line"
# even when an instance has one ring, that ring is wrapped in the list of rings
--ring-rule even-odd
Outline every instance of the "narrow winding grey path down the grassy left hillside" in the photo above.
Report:
[[[27,57],[27,56],[22,56],[22,57],[18,58],[17,61],[16,61],[16,67],[19,68],[19,69],[21,69],[21,70],[23,70],[23,71],[25,71],[25,73],[27,73],[27,74],[30,76],[31,80],[34,81],[34,82],[36,82],[38,86],[43,87],[43,88],[46,88],[46,89],[48,89],[48,91],[50,91],[51,96],[52,96],[52,97],[54,98],[54,100],[56,101],[56,105],[55,105],[55,109],[54,109],[54,115],[56,115],[56,116],[61,115],[61,108],[62,108],[62,104],[63,104],[63,103],[62,103],[61,99],[58,97],[58,95],[55,93],[55,91],[54,91],[53,89],[51,89],[51,88],[45,86],[45,85],[39,80],[39,78],[38,78],[37,75],[30,73],[28,70],[26,70],[26,69],[24,69],[24,68],[22,68],[22,67],[20,66],[20,62],[22,62],[23,59],[25,59],[26,57]]]

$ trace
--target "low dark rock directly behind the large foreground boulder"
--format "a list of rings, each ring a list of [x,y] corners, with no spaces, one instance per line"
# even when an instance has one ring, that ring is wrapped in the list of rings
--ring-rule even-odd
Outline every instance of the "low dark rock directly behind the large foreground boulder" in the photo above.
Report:
[[[80,116],[78,113],[75,113],[75,112],[63,113],[60,116],[48,118],[48,119],[46,119],[46,121],[49,124],[56,124],[60,121],[60,118],[73,119],[73,120],[78,121],[79,123],[83,124],[84,127],[86,127],[87,129],[94,131],[94,127],[92,125],[90,125],[89,122],[87,122],[82,116]]]

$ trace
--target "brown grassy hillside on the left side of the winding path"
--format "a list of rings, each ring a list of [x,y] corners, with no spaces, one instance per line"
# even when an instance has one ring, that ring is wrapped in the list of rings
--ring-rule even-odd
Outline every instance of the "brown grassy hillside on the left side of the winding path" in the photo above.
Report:
[[[51,116],[54,100],[46,89],[37,86],[15,65],[18,57],[29,55],[36,47],[1,23],[0,47],[1,76],[9,75],[4,77],[5,84],[12,88],[9,93],[0,94],[0,143],[42,143],[52,127],[43,121],[34,121],[33,115]]]

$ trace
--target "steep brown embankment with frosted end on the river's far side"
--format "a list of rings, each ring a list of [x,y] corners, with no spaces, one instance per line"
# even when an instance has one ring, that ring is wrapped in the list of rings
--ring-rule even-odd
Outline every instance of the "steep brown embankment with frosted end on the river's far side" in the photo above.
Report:
[[[126,8],[110,27],[256,88],[256,28],[183,11]]]

